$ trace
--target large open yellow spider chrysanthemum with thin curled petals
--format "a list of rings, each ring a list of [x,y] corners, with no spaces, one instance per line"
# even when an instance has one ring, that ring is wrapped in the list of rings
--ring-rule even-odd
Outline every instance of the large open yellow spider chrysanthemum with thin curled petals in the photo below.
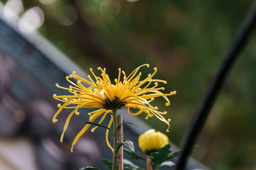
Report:
[[[164,97],[166,100],[165,105],[169,106],[170,101],[166,96],[170,96],[175,94],[176,92],[171,92],[169,94],[161,93],[159,90],[164,90],[164,87],[157,87],[158,83],[161,82],[166,84],[166,81],[164,80],[158,80],[158,79],[152,79],[152,77],[155,75],[157,68],[154,68],[154,73],[151,75],[149,74],[146,79],[140,80],[141,73],[138,72],[139,68],[146,66],[149,67],[148,64],[144,64],[138,68],[136,68],[129,76],[126,76],[124,71],[121,71],[119,68],[119,76],[118,79],[115,79],[115,83],[111,84],[109,76],[106,74],[106,69],[101,69],[100,67],[98,70],[101,70],[101,77],[95,76],[95,74],[92,72],[92,75],[94,76],[95,81],[91,79],[91,76],[88,76],[89,80],[86,80],[80,76],[77,76],[75,72],[73,72],[72,75],[66,76],[66,80],[71,83],[69,88],[61,87],[58,84],[56,84],[57,87],[68,90],[73,95],[60,95],[57,96],[54,94],[54,98],[56,100],[59,100],[61,102],[64,102],[63,105],[58,104],[59,110],[55,113],[53,117],[53,122],[55,123],[57,121],[56,117],[63,109],[74,109],[68,118],[66,119],[63,134],[61,136],[61,141],[63,140],[64,132],[66,131],[69,121],[73,114],[79,114],[78,109],[79,108],[91,108],[91,109],[99,109],[92,111],[91,113],[88,113],[90,115],[89,121],[93,122],[95,119],[97,119],[99,116],[103,115],[101,117],[101,120],[99,124],[105,119],[106,115],[110,113],[111,119],[109,126],[111,126],[113,122],[112,117],[112,110],[118,110],[121,108],[128,108],[128,113],[132,116],[140,115],[142,112],[145,112],[147,114],[146,119],[148,117],[152,117],[155,115],[156,118],[160,119],[161,121],[165,122],[168,125],[168,128],[166,131],[168,131],[170,125],[169,122],[170,119],[166,120],[162,115],[165,115],[167,112],[160,112],[157,111],[157,107],[153,107],[150,102],[154,100],[155,97]],[[123,81],[120,81],[121,72],[124,75]],[[77,82],[76,84],[73,83],[69,78],[76,78]],[[149,85],[154,83],[153,87],[149,87]],[[85,87],[82,85],[82,83],[85,83],[89,85],[90,87]],[[129,108],[137,108],[139,111],[137,113],[131,113]],[[73,152],[73,146],[76,144],[77,140],[86,132],[86,130],[90,127],[90,124],[87,124],[83,129],[78,133],[78,135],[75,137],[71,152]],[[97,127],[94,127],[91,129],[93,132]],[[108,133],[109,130],[106,131],[106,141],[110,149],[113,151],[112,147],[110,146],[109,140],[108,140]]]

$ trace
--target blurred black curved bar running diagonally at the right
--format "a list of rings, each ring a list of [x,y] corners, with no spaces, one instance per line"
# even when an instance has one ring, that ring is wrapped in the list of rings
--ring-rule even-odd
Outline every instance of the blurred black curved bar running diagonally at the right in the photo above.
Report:
[[[218,71],[213,77],[208,90],[203,97],[199,109],[196,110],[194,117],[191,121],[190,126],[188,127],[187,134],[184,138],[184,144],[182,145],[183,152],[178,158],[174,170],[184,170],[187,158],[191,153],[191,147],[195,143],[197,137],[199,136],[201,129],[209,115],[210,109],[217,98],[220,88],[224,83],[224,80],[234,63],[235,59],[238,57],[239,52],[243,50],[246,45],[246,42],[253,32],[256,25],[256,1],[245,17],[243,23],[238,29],[237,34],[233,41],[231,42],[230,48],[227,51],[223,61],[221,62]]]

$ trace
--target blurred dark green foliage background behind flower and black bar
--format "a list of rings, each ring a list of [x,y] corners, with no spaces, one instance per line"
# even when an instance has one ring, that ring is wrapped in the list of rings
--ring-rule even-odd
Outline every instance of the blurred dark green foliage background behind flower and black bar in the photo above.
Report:
[[[1,0],[6,3],[6,0]],[[38,6],[38,29],[84,71],[98,66],[110,78],[139,65],[145,76],[167,80],[169,99],[155,100],[171,118],[170,140],[179,145],[210,79],[253,0],[23,0]],[[21,14],[22,15],[22,14]],[[256,37],[231,69],[192,156],[214,170],[256,170]],[[146,116],[142,115],[142,119]],[[146,120],[165,132],[158,119]],[[157,122],[155,124],[155,122]]]

